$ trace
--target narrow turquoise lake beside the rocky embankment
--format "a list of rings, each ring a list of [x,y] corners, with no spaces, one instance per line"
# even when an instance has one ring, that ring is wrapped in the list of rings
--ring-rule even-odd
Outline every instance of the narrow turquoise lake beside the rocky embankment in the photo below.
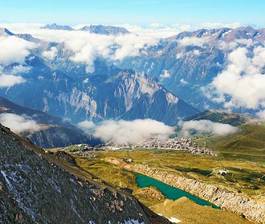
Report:
[[[135,174],[135,180],[136,184],[140,188],[144,187],[155,187],[158,189],[167,199],[171,200],[177,200],[181,197],[186,197],[190,199],[191,201],[195,202],[198,205],[202,206],[211,206],[213,208],[219,208],[218,206],[212,204],[211,202],[208,202],[206,200],[203,200],[195,195],[192,195],[186,191],[183,191],[179,188],[172,187],[168,184],[165,184],[161,181],[158,181],[154,178],[142,175],[142,174]]]

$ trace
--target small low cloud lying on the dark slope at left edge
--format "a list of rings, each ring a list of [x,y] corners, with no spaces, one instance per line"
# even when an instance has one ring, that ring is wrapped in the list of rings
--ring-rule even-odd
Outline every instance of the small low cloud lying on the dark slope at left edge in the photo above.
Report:
[[[11,131],[16,134],[21,134],[23,132],[33,133],[48,128],[48,126],[38,124],[31,118],[12,113],[0,114],[0,123],[10,128]]]

